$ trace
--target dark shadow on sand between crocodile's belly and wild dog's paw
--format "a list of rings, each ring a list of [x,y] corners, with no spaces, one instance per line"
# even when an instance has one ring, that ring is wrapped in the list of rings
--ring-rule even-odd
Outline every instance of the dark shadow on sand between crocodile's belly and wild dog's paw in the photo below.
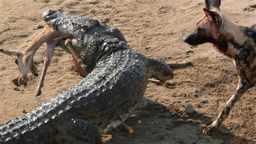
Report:
[[[148,98],[124,124],[103,136],[107,143],[254,143],[252,140],[234,136],[221,126],[213,136],[202,133],[212,120],[196,112],[192,105],[185,111],[172,113],[164,105]]]

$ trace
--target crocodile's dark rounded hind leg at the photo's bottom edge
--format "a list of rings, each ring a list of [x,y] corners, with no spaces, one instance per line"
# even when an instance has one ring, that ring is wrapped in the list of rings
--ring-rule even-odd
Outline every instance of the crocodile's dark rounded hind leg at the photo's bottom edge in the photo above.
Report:
[[[55,138],[59,143],[102,143],[95,125],[82,119],[67,120],[57,127],[57,131]]]

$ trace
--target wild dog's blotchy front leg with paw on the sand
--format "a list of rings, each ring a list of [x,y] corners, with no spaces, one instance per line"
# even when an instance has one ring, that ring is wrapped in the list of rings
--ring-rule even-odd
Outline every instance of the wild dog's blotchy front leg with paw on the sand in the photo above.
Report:
[[[212,122],[211,125],[207,126],[204,130],[203,133],[206,135],[212,135],[218,131],[219,126],[221,125],[221,122],[224,121],[228,113],[230,113],[231,108],[235,104],[235,102],[238,101],[242,97],[242,95],[250,88],[250,85],[247,83],[239,83],[237,87],[237,91],[235,92],[234,95],[227,101],[223,109],[221,110],[220,114],[218,115],[218,118]]]

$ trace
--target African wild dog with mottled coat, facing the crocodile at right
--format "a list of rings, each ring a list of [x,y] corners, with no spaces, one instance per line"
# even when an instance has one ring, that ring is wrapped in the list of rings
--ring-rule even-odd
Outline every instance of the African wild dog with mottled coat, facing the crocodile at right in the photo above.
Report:
[[[232,106],[256,83],[256,25],[239,26],[220,14],[220,0],[206,0],[205,16],[184,41],[190,45],[212,43],[218,51],[234,60],[239,74],[239,85],[227,101],[218,118],[203,133],[212,135],[227,118]]]

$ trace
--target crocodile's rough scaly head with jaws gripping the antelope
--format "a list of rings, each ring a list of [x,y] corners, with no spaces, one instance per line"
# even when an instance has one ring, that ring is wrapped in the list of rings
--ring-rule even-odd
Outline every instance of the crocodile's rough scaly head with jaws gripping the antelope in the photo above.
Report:
[[[76,17],[57,10],[45,11],[43,19],[62,35],[72,37],[73,48],[84,64],[90,68],[90,71],[92,71],[97,60],[102,57],[105,48],[101,45],[105,39],[117,38],[126,42],[118,29],[99,23],[97,19]],[[62,42],[58,43],[65,50],[63,44]]]

